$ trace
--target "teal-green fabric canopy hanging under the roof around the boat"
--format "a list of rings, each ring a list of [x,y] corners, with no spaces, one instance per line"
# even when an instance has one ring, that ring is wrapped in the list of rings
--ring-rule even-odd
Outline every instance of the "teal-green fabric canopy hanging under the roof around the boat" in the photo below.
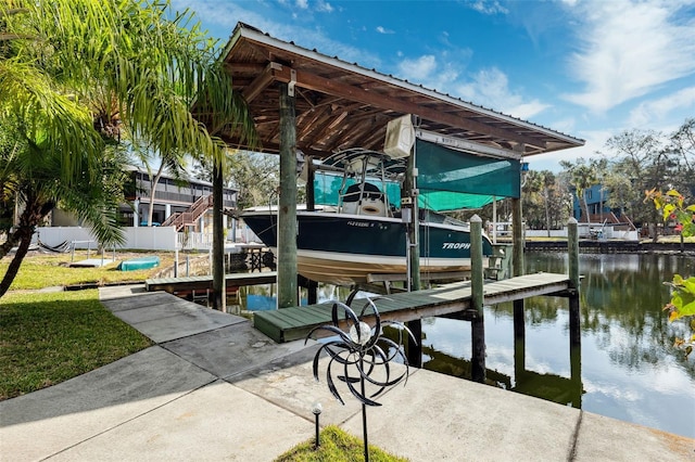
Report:
[[[416,140],[418,169],[418,205],[435,211],[480,208],[495,197],[519,197],[520,168],[517,159],[480,156],[424,140]],[[386,191],[389,202],[401,206],[401,187],[397,182],[374,179],[370,181]],[[346,185],[355,181],[348,179]],[[317,171],[314,178],[316,204],[338,205],[342,177]]]

